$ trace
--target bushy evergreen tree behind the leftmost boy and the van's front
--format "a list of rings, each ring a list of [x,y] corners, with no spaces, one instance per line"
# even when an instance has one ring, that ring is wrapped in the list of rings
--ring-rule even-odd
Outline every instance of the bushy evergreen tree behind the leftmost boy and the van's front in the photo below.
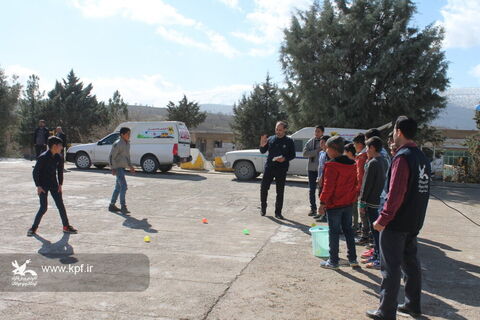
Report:
[[[83,86],[73,70],[48,93],[48,103],[42,117],[48,126],[61,126],[72,142],[84,142],[92,136],[92,128],[110,122],[103,102],[92,95],[92,84]]]

